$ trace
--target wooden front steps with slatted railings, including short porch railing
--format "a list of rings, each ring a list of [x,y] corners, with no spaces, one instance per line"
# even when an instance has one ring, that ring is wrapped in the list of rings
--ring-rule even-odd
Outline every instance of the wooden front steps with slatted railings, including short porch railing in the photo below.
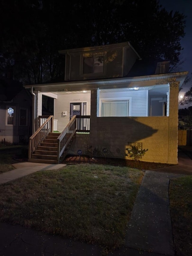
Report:
[[[29,138],[29,162],[58,164],[77,132],[89,133],[90,116],[73,116],[61,133],[54,132],[54,117],[39,116],[38,130]]]

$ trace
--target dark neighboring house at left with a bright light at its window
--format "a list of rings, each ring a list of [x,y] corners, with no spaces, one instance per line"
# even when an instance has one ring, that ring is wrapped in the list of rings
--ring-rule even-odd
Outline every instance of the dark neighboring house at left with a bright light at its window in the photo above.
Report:
[[[29,141],[31,110],[32,95],[22,83],[0,77],[0,143]]]

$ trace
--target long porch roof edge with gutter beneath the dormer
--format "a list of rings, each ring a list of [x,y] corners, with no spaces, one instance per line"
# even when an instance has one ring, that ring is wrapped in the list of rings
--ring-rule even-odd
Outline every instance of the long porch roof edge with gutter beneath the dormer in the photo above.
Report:
[[[179,88],[181,88],[188,71],[157,74],[140,77],[121,77],[112,79],[94,79],[94,80],[80,80],[80,81],[66,81],[62,83],[46,83],[25,85],[25,88],[34,88],[40,92],[67,92],[91,90],[93,88],[109,89],[109,88],[133,88],[152,85],[167,84],[170,80],[179,81]]]

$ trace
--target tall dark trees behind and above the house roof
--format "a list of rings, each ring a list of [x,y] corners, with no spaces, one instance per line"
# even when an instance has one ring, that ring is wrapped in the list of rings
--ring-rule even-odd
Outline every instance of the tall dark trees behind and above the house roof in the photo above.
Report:
[[[144,11],[145,10],[145,11]],[[157,0],[8,0],[0,3],[0,72],[23,83],[63,81],[58,50],[129,41],[142,58],[179,63],[185,16]]]

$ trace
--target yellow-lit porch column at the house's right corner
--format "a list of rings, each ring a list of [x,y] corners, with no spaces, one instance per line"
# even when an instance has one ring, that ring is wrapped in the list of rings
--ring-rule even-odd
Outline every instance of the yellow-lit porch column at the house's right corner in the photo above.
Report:
[[[177,164],[178,152],[178,95],[179,82],[170,81],[170,105],[168,124],[168,164]]]

